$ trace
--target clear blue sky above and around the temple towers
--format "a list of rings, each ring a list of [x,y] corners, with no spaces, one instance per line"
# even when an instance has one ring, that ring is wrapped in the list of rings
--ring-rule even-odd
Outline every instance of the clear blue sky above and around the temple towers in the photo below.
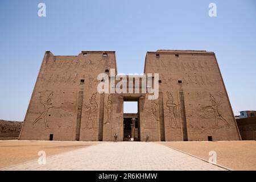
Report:
[[[210,2],[217,17],[208,16]],[[214,51],[234,114],[256,110],[254,0],[1,0],[0,119],[23,121],[44,51],[116,51],[119,73],[142,73],[156,49]]]

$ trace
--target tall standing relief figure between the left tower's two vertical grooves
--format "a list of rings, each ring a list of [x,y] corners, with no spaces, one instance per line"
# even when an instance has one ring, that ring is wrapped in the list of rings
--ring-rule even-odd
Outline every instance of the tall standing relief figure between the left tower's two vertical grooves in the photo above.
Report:
[[[85,105],[86,109],[89,109],[88,114],[88,120],[86,122],[86,125],[83,129],[93,129],[94,123],[97,119],[97,110],[98,110],[98,104],[96,100],[97,92],[92,94],[92,97],[90,97],[89,104]]]

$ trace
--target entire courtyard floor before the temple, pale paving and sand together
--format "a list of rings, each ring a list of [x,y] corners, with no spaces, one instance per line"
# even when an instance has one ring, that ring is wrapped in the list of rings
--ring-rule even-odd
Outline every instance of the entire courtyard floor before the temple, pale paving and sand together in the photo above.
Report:
[[[255,145],[255,141],[115,143],[1,140],[0,168],[2,170],[225,170],[199,159],[208,161],[209,151],[214,150],[217,153],[217,164],[232,169],[255,170]],[[45,165],[38,163],[40,157],[38,151],[46,152]]]

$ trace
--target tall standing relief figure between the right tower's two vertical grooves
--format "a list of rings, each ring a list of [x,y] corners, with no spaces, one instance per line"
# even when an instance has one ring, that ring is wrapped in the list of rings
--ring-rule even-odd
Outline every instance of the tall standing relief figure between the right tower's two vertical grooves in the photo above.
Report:
[[[173,129],[179,128],[177,125],[177,105],[174,103],[174,97],[172,97],[172,94],[170,92],[166,92],[168,100],[166,102],[166,106],[169,110],[169,127],[172,127]]]

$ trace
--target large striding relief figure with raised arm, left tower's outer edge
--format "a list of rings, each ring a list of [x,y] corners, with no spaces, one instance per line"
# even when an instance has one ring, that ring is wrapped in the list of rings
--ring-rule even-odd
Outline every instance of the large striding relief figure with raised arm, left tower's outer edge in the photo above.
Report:
[[[45,91],[44,94],[47,94],[49,91]],[[39,115],[38,118],[35,119],[35,121],[32,123],[33,126],[35,126],[35,123],[37,123],[40,119],[43,119],[44,124],[46,125],[46,129],[49,127],[48,126],[48,112],[50,109],[60,109],[60,107],[55,107],[52,105],[52,100],[51,97],[53,96],[53,91],[48,94],[46,100],[42,100],[42,94],[40,95],[40,104],[43,105],[44,110],[43,112]]]

